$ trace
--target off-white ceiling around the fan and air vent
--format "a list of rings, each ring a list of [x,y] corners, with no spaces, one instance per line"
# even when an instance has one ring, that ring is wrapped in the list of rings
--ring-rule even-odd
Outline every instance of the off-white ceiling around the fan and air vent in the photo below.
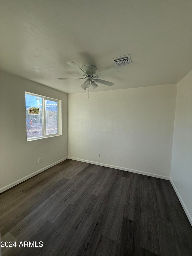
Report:
[[[1,69],[67,93],[83,92],[66,62],[113,68],[95,91],[178,83],[192,70],[191,0],[1,0]],[[81,75],[80,75],[81,77]],[[92,91],[92,89],[90,89]]]

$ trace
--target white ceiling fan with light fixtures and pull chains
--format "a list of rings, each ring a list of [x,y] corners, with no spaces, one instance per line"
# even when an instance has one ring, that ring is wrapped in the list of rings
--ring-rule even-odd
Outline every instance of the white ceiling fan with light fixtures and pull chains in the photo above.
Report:
[[[96,83],[102,83],[108,86],[114,85],[112,82],[108,82],[105,80],[98,79],[98,77],[109,76],[111,74],[118,73],[119,71],[116,68],[110,68],[105,71],[101,71],[99,73],[95,73],[96,67],[93,65],[85,65],[82,68],[79,68],[74,62],[67,62],[72,68],[78,71],[84,78],[82,77],[72,77],[72,78],[58,78],[59,80],[65,79],[85,79],[85,82],[81,85],[83,90],[86,90],[88,87],[92,86],[93,89],[97,88],[98,85]],[[96,82],[96,83],[95,83]]]

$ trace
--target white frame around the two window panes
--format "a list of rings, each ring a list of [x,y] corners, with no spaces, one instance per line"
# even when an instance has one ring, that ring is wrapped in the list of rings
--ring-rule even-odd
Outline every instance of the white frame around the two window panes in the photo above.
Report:
[[[44,139],[44,138],[49,138],[49,137],[56,137],[56,136],[62,135],[61,100],[57,100],[57,99],[54,99],[54,98],[49,98],[49,97],[39,95],[39,94],[35,94],[35,93],[32,93],[32,92],[25,92],[25,95],[26,94],[42,98],[42,128],[43,128],[43,136],[42,137],[27,138],[27,141],[39,140],[39,139]],[[57,102],[57,113],[58,113],[58,116],[57,116],[57,133],[48,134],[48,135],[45,134],[46,133],[46,122],[45,122],[45,101],[46,100]]]

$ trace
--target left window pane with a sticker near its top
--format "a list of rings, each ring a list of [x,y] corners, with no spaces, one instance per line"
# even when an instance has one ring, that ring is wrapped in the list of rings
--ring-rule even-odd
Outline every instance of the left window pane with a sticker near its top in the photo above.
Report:
[[[27,139],[42,137],[42,98],[30,94],[26,98]]]

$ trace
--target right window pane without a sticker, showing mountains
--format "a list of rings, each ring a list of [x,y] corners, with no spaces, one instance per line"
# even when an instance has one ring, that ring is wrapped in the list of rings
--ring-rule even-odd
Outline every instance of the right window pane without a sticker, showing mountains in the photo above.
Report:
[[[45,100],[45,134],[58,133],[58,109],[57,101]]]

